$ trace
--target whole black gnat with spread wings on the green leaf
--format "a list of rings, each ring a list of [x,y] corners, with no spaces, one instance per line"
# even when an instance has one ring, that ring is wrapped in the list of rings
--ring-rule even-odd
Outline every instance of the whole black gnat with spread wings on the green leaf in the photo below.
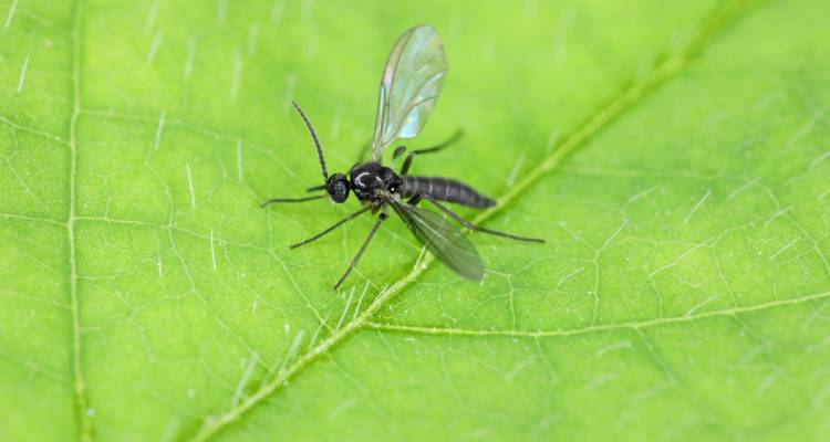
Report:
[[[428,24],[422,24],[401,35],[392,49],[386,67],[383,71],[375,131],[372,139],[372,160],[354,165],[347,177],[343,173],[329,175],[323,158],[323,149],[314,128],[300,106],[292,102],[311,134],[325,179],[324,185],[308,190],[325,191],[325,193],[305,198],[273,198],[262,203],[262,207],[274,202],[311,201],[325,198],[326,194],[334,202],[341,203],[349,198],[351,191],[363,203],[363,208],[314,236],[292,244],[291,249],[318,240],[363,213],[369,211],[372,213],[380,212],[377,221],[363,241],[363,245],[357,250],[354,259],[352,259],[349,269],[334,284],[335,290],[352,272],[377,229],[388,218],[390,207],[438,260],[459,275],[474,281],[480,281],[484,277],[484,265],[475,246],[443,217],[429,210],[417,208],[421,201],[429,201],[449,218],[470,230],[517,241],[544,242],[540,239],[517,236],[474,225],[440,203],[440,201],[454,202],[477,209],[496,204],[496,201],[465,183],[448,178],[413,177],[408,175],[409,166],[412,166],[412,160],[416,155],[436,152],[457,141],[460,138],[460,133],[440,145],[409,151],[401,171],[397,173],[381,164],[381,155],[390,145],[398,138],[414,137],[424,127],[426,118],[438,98],[446,73],[447,61],[440,38],[435,29]],[[405,151],[406,148],[400,146],[393,152],[392,158],[398,158]]]

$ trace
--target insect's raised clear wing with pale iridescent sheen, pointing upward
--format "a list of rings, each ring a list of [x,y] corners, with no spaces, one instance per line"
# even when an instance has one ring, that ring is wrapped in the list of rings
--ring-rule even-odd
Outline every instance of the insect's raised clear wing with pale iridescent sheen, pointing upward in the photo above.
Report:
[[[372,160],[396,138],[412,138],[426,123],[444,85],[447,59],[435,29],[421,24],[404,32],[392,48],[381,78]]]

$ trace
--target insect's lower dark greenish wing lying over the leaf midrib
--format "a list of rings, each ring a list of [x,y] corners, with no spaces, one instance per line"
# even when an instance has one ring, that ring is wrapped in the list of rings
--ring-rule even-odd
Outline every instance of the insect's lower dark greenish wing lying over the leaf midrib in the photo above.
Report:
[[[473,281],[484,277],[484,264],[469,240],[455,225],[429,210],[393,200],[395,212],[426,248],[455,273]]]

